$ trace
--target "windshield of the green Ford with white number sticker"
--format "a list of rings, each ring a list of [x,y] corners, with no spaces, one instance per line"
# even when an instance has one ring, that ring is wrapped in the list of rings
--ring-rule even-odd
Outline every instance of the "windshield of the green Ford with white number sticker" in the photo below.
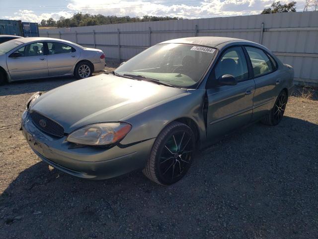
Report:
[[[216,49],[190,44],[159,44],[119,66],[115,73],[155,79],[172,86],[196,85],[216,54]]]

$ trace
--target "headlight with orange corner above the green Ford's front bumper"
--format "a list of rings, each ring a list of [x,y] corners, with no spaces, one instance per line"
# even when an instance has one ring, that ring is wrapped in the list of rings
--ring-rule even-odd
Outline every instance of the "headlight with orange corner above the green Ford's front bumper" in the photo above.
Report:
[[[84,145],[112,144],[123,139],[131,127],[124,122],[90,124],[72,132],[67,140]]]

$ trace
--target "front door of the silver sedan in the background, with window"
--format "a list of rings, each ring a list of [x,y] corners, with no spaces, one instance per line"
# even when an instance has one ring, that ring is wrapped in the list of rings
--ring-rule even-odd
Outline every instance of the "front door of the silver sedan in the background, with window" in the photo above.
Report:
[[[44,54],[42,42],[19,48],[7,57],[6,64],[12,80],[48,76],[47,57]]]

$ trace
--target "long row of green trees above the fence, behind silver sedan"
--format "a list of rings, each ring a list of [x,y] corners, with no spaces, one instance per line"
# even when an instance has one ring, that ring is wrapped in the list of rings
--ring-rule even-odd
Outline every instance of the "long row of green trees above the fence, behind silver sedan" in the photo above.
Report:
[[[104,16],[102,14],[91,15],[83,14],[81,12],[75,13],[71,18],[61,16],[59,20],[55,21],[53,18],[47,20],[43,19],[40,26],[57,26],[57,27],[75,27],[75,26],[93,26],[93,25],[106,25],[115,23],[127,22],[142,22],[142,21],[163,21],[163,20],[178,20],[182,17],[169,17],[169,16],[148,16],[140,17],[130,16]]]

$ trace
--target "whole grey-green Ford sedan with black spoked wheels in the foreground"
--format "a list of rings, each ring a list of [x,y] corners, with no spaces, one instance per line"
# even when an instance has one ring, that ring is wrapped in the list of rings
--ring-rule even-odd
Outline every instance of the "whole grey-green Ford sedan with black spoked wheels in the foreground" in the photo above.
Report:
[[[87,179],[143,170],[170,185],[197,149],[251,122],[278,124],[294,70],[257,43],[174,39],[112,74],[79,80],[27,102],[21,128],[49,165]]]

